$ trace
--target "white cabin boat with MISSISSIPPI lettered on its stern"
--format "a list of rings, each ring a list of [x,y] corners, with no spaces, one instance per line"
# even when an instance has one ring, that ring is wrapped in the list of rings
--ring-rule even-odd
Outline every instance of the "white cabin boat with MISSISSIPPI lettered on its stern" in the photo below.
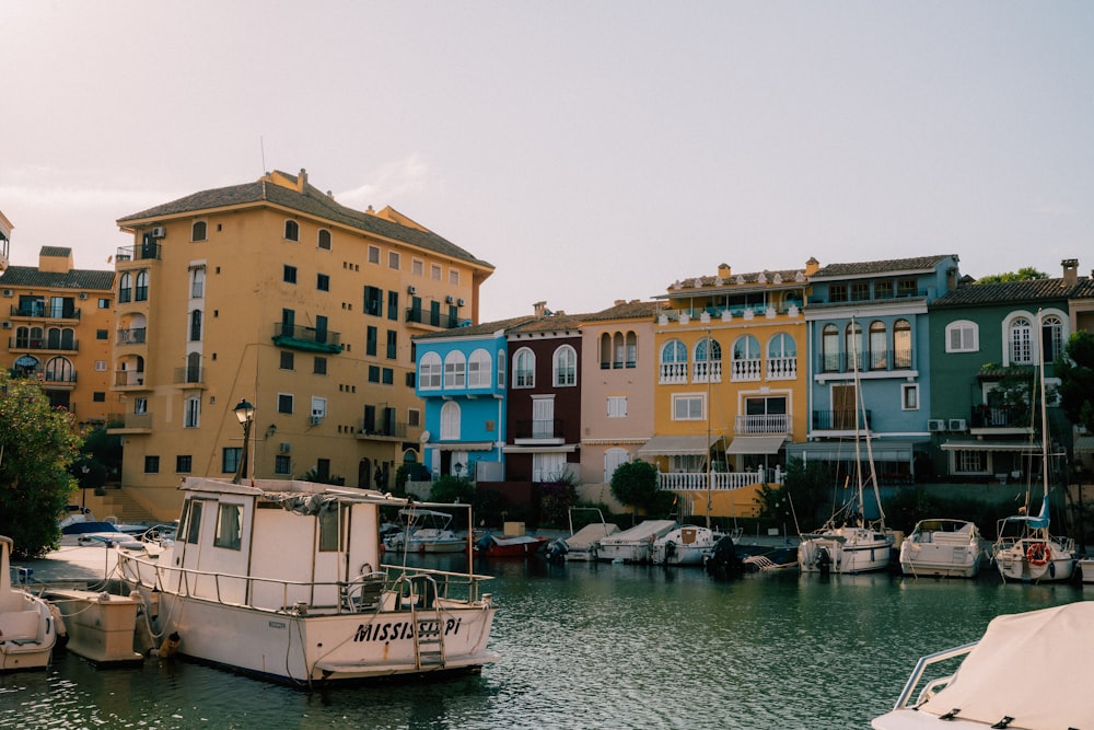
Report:
[[[118,552],[154,640],[177,634],[178,653],[307,686],[498,659],[488,576],[381,565],[381,508],[406,500],[295,480],[179,488],[174,543],[156,559]]]

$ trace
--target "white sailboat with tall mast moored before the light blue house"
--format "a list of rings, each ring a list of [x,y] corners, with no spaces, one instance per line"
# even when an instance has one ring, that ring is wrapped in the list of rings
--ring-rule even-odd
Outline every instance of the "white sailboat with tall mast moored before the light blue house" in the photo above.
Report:
[[[853,325],[853,320],[851,321]],[[859,381],[858,338],[851,337],[851,361],[854,371],[854,473],[858,482],[858,500],[843,505],[825,522],[821,530],[802,535],[798,546],[798,566],[802,572],[857,573],[888,568],[893,552],[893,532],[885,529],[885,510],[877,491],[877,473],[874,452],[870,443],[870,429],[862,428],[865,413],[862,407],[862,384]],[[870,465],[869,480],[873,484],[880,519],[876,525],[865,524],[864,479],[861,447],[865,443]],[[846,483],[845,483],[846,484]],[[854,510],[854,511],[852,511]]]

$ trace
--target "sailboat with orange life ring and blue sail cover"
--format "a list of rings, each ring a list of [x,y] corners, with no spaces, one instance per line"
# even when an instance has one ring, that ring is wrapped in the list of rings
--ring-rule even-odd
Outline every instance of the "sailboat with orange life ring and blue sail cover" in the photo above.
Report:
[[[1038,322],[1040,316],[1038,315]],[[1049,433],[1048,406],[1045,398],[1045,358],[1040,358],[1040,456],[1044,497],[1040,512],[1028,513],[1028,491],[1026,509],[1022,513],[999,521],[991,558],[1005,580],[1059,581],[1069,580],[1075,570],[1074,541],[1070,537],[1055,537],[1049,533],[1048,473]]]

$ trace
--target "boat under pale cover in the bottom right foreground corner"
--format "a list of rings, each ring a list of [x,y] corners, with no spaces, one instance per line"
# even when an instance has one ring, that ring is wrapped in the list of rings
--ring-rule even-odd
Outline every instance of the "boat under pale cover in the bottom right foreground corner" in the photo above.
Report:
[[[1094,602],[999,616],[979,641],[923,657],[875,730],[1087,728],[1094,718]],[[929,667],[964,657],[947,676]],[[917,693],[917,688],[922,690]]]

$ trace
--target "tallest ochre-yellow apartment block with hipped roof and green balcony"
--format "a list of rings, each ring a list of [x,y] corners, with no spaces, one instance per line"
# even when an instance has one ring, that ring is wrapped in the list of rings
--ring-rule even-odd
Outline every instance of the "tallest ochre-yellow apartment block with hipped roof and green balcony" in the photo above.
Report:
[[[492,266],[391,208],[339,205],[303,170],[118,225],[133,243],[116,264],[112,430],[123,487],[154,517],[176,517],[188,475],[375,487],[420,461],[410,338],[476,322]]]

